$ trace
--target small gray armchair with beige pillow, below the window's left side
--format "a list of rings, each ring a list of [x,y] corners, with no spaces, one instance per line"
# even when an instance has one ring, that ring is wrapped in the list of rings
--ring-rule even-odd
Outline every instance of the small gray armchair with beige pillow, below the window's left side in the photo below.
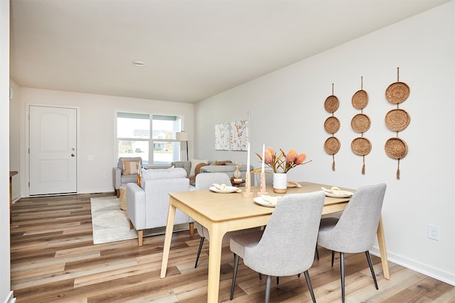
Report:
[[[117,198],[119,197],[120,187],[122,185],[133,182],[137,183],[137,170],[139,170],[139,167],[142,167],[142,158],[140,157],[119,158],[117,167],[112,168],[112,181],[114,182]]]

